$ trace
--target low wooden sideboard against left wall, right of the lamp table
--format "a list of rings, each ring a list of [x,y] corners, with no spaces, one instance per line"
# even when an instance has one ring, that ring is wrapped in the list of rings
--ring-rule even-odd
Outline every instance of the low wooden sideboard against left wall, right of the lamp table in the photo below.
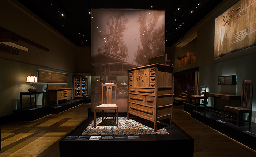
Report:
[[[72,100],[72,89],[65,88],[64,84],[48,84],[47,85],[47,99],[49,101],[56,101],[58,105],[59,100],[71,98]]]

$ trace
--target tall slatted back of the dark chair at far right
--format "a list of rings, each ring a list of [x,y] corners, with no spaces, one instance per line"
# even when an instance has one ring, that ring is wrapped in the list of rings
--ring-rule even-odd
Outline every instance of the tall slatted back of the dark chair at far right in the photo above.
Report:
[[[240,107],[252,109],[253,79],[243,80]]]

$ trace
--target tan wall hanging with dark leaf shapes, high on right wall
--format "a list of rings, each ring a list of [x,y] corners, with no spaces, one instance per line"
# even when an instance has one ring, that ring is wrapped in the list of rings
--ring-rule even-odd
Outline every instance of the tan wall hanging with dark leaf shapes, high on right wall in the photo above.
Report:
[[[256,45],[256,0],[239,0],[215,19],[214,58]]]

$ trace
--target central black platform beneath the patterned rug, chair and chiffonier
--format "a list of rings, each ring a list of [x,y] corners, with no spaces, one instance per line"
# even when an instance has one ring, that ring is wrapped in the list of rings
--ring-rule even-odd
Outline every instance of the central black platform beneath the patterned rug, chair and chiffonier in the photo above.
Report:
[[[81,135],[93,116],[60,140],[60,157],[71,156],[179,156],[193,157],[194,139],[175,123],[167,126],[168,135]],[[169,121],[161,121],[167,125]]]

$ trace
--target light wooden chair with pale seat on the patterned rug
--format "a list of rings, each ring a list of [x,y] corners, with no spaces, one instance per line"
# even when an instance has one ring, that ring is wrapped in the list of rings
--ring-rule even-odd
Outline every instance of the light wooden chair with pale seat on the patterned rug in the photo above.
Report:
[[[107,103],[104,103],[104,96],[103,96],[103,87],[107,88]],[[112,88],[115,87],[115,103],[112,104]],[[99,115],[102,117],[102,121],[104,120],[104,117],[109,117],[104,115],[104,110],[115,110],[114,118],[116,119],[116,125],[118,127],[118,106],[116,105],[116,93],[117,93],[117,84],[114,83],[105,83],[101,84],[101,91],[102,91],[102,104],[99,106],[94,106],[94,127],[96,127],[96,110],[102,110],[102,114]]]

